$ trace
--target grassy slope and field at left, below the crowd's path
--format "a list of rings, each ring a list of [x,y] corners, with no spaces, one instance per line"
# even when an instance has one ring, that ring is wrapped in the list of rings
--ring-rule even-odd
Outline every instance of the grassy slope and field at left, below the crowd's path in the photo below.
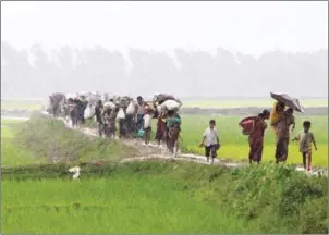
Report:
[[[8,123],[8,122],[7,122]],[[2,128],[2,165],[41,162],[115,161],[133,149],[111,139],[90,138],[58,120],[33,114],[29,121]]]

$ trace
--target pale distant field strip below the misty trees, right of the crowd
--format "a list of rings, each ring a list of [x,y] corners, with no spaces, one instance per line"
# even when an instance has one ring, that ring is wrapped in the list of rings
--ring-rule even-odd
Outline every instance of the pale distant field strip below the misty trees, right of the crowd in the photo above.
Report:
[[[273,100],[269,99],[236,99],[236,100],[183,100],[184,108],[246,108],[246,107],[272,107]],[[328,99],[301,100],[304,107],[328,107]]]

